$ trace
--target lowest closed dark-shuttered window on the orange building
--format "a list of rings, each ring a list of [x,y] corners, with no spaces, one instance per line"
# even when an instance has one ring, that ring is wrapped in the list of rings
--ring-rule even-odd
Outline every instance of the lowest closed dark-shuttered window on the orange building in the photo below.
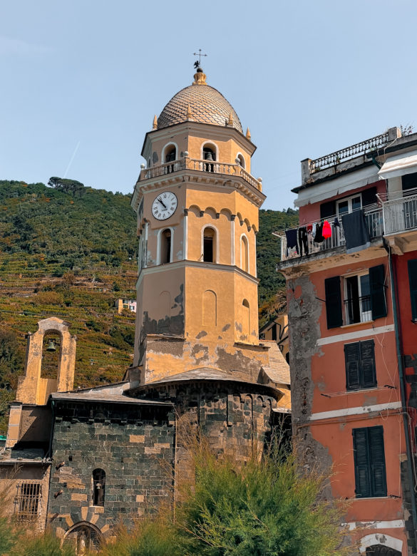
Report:
[[[356,498],[386,496],[383,427],[354,428]]]

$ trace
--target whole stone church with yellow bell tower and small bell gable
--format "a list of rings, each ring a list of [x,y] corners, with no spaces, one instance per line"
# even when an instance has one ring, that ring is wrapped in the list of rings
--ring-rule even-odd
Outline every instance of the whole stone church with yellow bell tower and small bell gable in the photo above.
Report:
[[[254,150],[249,128],[243,132],[197,68],[143,143],[147,163],[131,202],[133,365],[119,383],[73,391],[71,325],[53,317],[29,334],[0,473],[13,483],[11,513],[51,528],[78,553],[112,537],[118,519],[129,524],[175,504],[175,484],[187,472],[181,423],[197,423],[218,453],[244,460],[289,412],[287,362],[276,341],[258,336],[256,236],[265,197],[251,175]],[[51,334],[56,379],[42,376]]]

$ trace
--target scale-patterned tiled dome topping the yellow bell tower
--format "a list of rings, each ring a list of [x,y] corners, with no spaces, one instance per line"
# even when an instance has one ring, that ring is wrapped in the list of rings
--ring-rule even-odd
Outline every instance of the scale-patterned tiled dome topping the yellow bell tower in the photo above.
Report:
[[[214,87],[207,85],[205,73],[198,68],[192,85],[171,98],[158,118],[158,129],[192,120],[214,125],[230,125],[243,133],[239,116],[229,101]]]

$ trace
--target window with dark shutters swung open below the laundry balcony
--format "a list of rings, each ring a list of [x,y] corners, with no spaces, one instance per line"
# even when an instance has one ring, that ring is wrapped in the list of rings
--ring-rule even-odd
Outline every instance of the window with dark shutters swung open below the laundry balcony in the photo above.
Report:
[[[341,291],[344,292],[344,311]],[[334,276],[324,280],[327,328],[355,324],[387,315],[383,264],[369,272],[347,277]]]

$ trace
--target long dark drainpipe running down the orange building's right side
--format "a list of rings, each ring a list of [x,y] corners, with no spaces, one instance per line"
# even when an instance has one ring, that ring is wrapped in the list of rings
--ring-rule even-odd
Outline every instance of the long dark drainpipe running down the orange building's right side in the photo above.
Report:
[[[393,319],[394,319],[394,327],[396,332],[396,352],[397,352],[397,360],[398,360],[398,374],[400,379],[401,413],[403,415],[404,435],[406,436],[406,452],[407,452],[407,459],[408,459],[407,474],[408,474],[408,483],[410,484],[410,494],[411,494],[411,515],[413,518],[414,539],[416,540],[416,545],[417,545],[417,505],[416,505],[416,490],[415,490],[414,478],[413,478],[413,453],[411,451],[411,442],[410,442],[410,436],[408,432],[409,416],[407,411],[404,361],[403,361],[403,356],[401,354],[400,327],[398,322],[398,309],[397,309],[397,301],[396,301],[397,287],[396,287],[396,279],[394,277],[394,270],[392,264],[391,246],[388,246],[388,264],[389,264],[389,277],[391,280],[391,300],[392,300],[392,309],[393,309]]]

